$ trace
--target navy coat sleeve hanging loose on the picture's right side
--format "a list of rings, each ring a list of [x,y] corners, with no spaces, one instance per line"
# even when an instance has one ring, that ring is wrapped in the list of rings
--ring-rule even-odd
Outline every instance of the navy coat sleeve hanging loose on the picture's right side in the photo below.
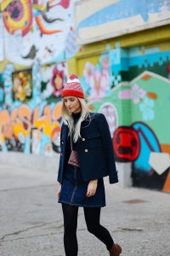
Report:
[[[110,183],[118,183],[115,157],[114,157],[113,145],[112,145],[112,139],[111,139],[111,131],[109,129],[109,125],[103,113],[96,113],[95,119],[97,120],[98,129],[102,138],[105,158],[106,158],[107,167],[109,170],[109,181]]]

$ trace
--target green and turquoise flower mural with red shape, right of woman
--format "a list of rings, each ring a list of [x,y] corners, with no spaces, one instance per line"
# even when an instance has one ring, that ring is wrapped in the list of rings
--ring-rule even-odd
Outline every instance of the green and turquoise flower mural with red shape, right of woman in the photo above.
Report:
[[[108,50],[78,61],[89,108],[105,113],[116,161],[133,185],[170,192],[170,44]]]

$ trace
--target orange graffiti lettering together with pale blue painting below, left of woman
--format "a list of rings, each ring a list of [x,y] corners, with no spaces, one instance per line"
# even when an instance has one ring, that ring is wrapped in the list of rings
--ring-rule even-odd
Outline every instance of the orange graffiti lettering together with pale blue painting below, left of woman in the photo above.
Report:
[[[11,111],[0,111],[1,149],[53,155],[54,146],[59,152],[61,103],[53,107],[40,104],[32,109],[22,104]]]

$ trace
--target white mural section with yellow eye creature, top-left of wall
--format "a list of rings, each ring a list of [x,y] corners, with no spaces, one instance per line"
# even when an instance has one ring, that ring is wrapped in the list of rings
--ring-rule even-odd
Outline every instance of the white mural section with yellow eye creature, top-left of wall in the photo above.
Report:
[[[31,66],[35,60],[44,64],[75,55],[73,5],[74,0],[2,0],[0,60]]]

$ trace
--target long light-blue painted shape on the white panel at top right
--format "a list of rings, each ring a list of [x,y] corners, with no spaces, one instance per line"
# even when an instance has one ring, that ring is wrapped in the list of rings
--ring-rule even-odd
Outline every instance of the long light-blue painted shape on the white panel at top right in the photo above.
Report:
[[[77,36],[81,38],[79,32],[83,27],[99,26],[115,20],[126,20],[136,15],[141,15],[144,22],[147,22],[150,14],[161,14],[164,2],[164,0],[120,0],[82,20],[77,26]],[[167,0],[167,9],[170,10],[170,0]]]

